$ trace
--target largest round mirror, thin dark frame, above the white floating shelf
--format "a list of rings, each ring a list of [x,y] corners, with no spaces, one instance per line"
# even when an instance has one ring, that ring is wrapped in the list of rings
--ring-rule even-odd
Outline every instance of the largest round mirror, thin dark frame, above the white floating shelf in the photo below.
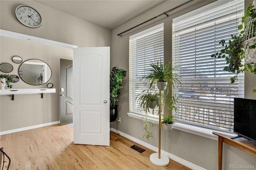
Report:
[[[20,78],[30,85],[42,85],[50,80],[51,68],[40,59],[28,59],[19,67]]]

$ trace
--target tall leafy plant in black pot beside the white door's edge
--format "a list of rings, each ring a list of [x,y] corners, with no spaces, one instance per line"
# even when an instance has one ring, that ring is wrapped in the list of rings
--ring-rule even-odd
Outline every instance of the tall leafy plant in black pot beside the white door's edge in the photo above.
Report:
[[[118,114],[118,95],[120,94],[120,89],[122,89],[121,83],[124,76],[126,76],[126,71],[116,67],[112,68],[110,73],[110,122],[114,122]]]

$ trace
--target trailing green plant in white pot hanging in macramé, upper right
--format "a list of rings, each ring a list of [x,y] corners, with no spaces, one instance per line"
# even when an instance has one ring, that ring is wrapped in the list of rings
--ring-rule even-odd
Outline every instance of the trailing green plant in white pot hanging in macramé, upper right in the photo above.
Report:
[[[256,74],[256,9],[251,2],[244,14],[242,24],[238,26],[238,30],[244,28],[240,34],[238,36],[230,35],[231,40],[228,43],[221,40],[219,43],[224,48],[211,55],[211,57],[226,59],[228,66],[225,66],[223,70],[236,73],[230,78],[231,83],[237,81],[237,75],[241,72],[250,71],[250,73]],[[242,63],[243,59],[245,59],[245,64]],[[255,93],[256,89],[252,92]]]

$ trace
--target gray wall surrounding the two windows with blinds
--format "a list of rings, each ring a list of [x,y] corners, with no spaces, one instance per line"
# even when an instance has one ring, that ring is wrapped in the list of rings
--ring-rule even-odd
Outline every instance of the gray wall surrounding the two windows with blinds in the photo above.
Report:
[[[182,1],[185,2],[185,1]],[[153,20],[143,26],[135,28],[125,34],[122,37],[117,36],[118,33],[123,32],[133,26],[140,24],[153,18],[167,10],[170,10],[175,4],[182,3],[181,1],[166,1],[156,8],[145,12],[144,14],[134,18],[133,20],[123,24],[122,26],[112,30],[112,56],[110,67],[118,67],[129,71],[129,36],[136,34],[146,28],[150,28],[154,25],[164,22],[164,59],[168,61],[172,56],[172,18],[180,16],[193,9],[199,8],[205,4],[213,1],[194,1],[188,4],[186,7],[178,8],[169,13],[169,17],[161,16],[159,19]],[[247,4],[246,4],[247,6]],[[121,117],[121,123],[118,123],[118,130],[124,132],[130,136],[138,138],[144,142],[152,144],[158,147],[158,127],[153,128],[154,138],[150,139],[150,142],[146,138],[142,138],[144,132],[142,131],[141,122],[138,119],[128,117],[129,112],[129,84],[128,84],[129,72],[122,83],[123,89],[118,101],[118,114]],[[250,99],[256,99],[256,94],[252,94],[252,89],[255,88],[256,76],[246,73],[245,75],[245,97]],[[113,123],[113,128],[116,128],[116,123]],[[183,158],[193,164],[201,166],[209,170],[218,169],[218,141],[183,132],[173,129],[170,132],[162,130],[161,139],[162,149],[174,154],[180,158]],[[238,150],[232,146],[224,144],[223,148],[223,169],[230,169],[230,164],[236,165],[254,165],[256,167],[256,158],[246,154],[245,152]]]

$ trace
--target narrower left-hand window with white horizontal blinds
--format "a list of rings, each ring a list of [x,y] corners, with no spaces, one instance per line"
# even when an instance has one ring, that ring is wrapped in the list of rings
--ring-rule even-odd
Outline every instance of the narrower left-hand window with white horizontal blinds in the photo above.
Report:
[[[148,89],[140,81],[147,74],[150,63],[164,61],[164,24],[159,24],[130,36],[129,40],[129,100],[130,112],[144,114],[137,95]]]

